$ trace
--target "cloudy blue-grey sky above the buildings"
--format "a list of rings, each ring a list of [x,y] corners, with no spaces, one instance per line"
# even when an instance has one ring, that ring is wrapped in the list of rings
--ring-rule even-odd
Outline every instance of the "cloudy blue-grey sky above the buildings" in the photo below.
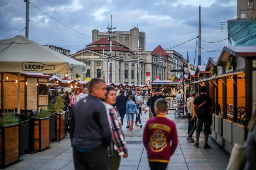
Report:
[[[146,33],[146,50],[157,45],[172,47],[198,36],[198,6],[201,5],[202,40],[214,42],[227,38],[219,23],[236,18],[236,0],[30,0],[51,17],[73,30],[64,27],[30,4],[29,38],[41,43],[64,47],[75,53],[91,43],[91,31],[106,31],[113,16],[117,31],[130,30],[136,26]],[[25,28],[24,0],[1,0],[0,39]],[[25,31],[20,33],[25,34]],[[196,40],[174,48],[194,62]],[[72,45],[80,45],[66,47]],[[204,43],[206,50],[221,50],[227,40],[219,43]],[[204,58],[219,56],[220,52],[205,52]],[[198,55],[198,54],[197,54]],[[195,61],[197,63],[197,60]]]

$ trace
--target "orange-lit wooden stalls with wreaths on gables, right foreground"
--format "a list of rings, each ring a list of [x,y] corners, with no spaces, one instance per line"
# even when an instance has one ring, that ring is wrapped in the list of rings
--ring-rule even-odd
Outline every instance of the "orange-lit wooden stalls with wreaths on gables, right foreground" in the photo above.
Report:
[[[210,58],[205,83],[214,101],[212,139],[228,153],[235,143],[243,145],[246,126],[256,109],[256,47],[224,47],[218,59]]]

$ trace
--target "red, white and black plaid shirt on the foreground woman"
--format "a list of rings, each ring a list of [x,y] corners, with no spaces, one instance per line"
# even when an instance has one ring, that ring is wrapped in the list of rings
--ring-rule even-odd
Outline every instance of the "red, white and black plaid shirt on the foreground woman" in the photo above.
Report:
[[[116,108],[110,109],[109,120],[112,128],[112,140],[108,147],[108,154],[111,156],[116,150],[120,156],[124,155],[125,153],[128,153],[128,150],[126,148],[125,135],[123,134],[120,115]]]

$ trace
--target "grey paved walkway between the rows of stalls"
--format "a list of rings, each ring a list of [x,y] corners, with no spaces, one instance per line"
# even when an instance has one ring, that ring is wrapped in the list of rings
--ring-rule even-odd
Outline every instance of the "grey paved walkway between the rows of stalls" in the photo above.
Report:
[[[179,145],[170,159],[168,169],[179,170],[225,170],[228,156],[215,143],[209,140],[211,150],[205,150],[204,137],[200,137],[199,148],[194,148],[194,143],[187,142],[187,119],[177,118],[170,111],[168,118],[175,121]],[[142,124],[148,120],[148,114],[141,117]],[[126,129],[124,121],[124,132],[127,141],[129,156],[121,160],[120,170],[149,170],[147,162],[147,152],[142,144],[143,128],[135,127],[133,132]],[[66,137],[60,143],[51,143],[51,148],[44,152],[35,154],[25,154],[21,158],[24,160],[8,167],[8,170],[73,170],[73,157],[70,140]]]

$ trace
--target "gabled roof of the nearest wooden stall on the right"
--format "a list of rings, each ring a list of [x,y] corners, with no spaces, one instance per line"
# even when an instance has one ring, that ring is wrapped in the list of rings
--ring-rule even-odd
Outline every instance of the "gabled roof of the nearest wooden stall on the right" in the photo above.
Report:
[[[216,65],[225,65],[230,54],[241,57],[256,57],[256,47],[224,47]]]

